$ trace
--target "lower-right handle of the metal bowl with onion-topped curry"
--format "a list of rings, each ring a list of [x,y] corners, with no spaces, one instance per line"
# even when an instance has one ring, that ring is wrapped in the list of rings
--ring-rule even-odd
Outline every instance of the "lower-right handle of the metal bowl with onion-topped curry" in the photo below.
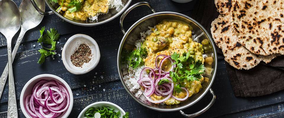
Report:
[[[194,114],[185,114],[182,110],[180,110],[180,113],[186,118],[193,118],[193,117],[196,117],[196,116],[206,112],[214,104],[214,102],[216,100],[216,95],[214,94],[213,90],[211,88],[209,90],[210,90],[210,93],[213,96],[213,98],[212,98],[211,102],[206,107],[204,107],[199,112],[196,112]]]

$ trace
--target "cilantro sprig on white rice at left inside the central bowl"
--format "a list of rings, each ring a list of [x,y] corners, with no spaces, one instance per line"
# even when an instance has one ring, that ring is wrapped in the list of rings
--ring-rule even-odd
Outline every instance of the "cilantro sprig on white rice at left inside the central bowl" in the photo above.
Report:
[[[143,47],[141,43],[141,47],[139,49],[135,49],[130,52],[130,54],[126,57],[126,60],[128,61],[128,70],[130,67],[137,68],[140,65],[143,65],[143,58],[147,57],[148,52],[146,47]]]

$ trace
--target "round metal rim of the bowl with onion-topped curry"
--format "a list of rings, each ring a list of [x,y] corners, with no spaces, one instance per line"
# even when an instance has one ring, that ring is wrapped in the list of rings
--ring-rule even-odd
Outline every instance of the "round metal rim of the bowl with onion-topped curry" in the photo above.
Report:
[[[214,41],[211,37],[211,35],[209,35],[209,33],[207,32],[207,30],[201,25],[199,24],[196,20],[192,19],[191,17],[188,17],[184,14],[180,14],[180,13],[177,13],[177,12],[156,12],[156,13],[153,13],[153,14],[149,14],[141,19],[139,19],[137,22],[135,22],[128,30],[127,32],[125,33],[125,35],[123,36],[121,42],[120,42],[120,45],[119,45],[119,50],[118,50],[118,53],[117,53],[117,69],[118,69],[118,73],[119,73],[119,76],[120,76],[120,80],[124,86],[124,88],[126,89],[126,91],[128,92],[128,94],[130,94],[130,96],[135,100],[137,101],[139,104],[149,108],[149,109],[153,109],[153,110],[156,110],[156,111],[161,111],[161,112],[175,112],[175,111],[179,111],[179,110],[182,110],[182,109],[185,109],[185,108],[188,108],[189,106],[192,106],[193,104],[197,103],[200,99],[202,99],[205,94],[207,94],[207,92],[209,91],[209,89],[211,88],[212,86],[212,83],[215,79],[215,76],[216,76],[216,71],[217,71],[217,53],[216,53],[216,48],[214,45],[212,45],[213,47],[213,55],[214,55],[214,70],[213,70],[213,74],[212,74],[212,78],[210,80],[210,83],[208,84],[208,86],[206,87],[206,89],[204,90],[204,92],[199,95],[195,100],[193,100],[191,103],[189,104],[186,104],[184,106],[181,106],[181,107],[178,107],[178,108],[170,108],[170,109],[164,109],[164,108],[157,108],[157,107],[154,107],[154,106],[150,106],[148,104],[145,104],[143,102],[141,102],[140,100],[138,100],[131,92],[130,90],[127,88],[127,86],[125,85],[125,82],[123,80],[123,77],[122,77],[122,74],[120,72],[120,52],[122,50],[122,45],[124,44],[125,42],[125,38],[127,37],[128,33],[133,30],[133,28],[141,21],[144,21],[145,19],[149,18],[149,17],[155,17],[156,15],[161,15],[161,14],[174,14],[174,15],[178,15],[178,16],[181,16],[181,17],[185,17],[186,19],[189,19],[191,20],[193,23],[195,23],[198,27],[201,28],[201,30],[203,32],[206,33],[207,37],[209,38],[210,42],[213,44]]]

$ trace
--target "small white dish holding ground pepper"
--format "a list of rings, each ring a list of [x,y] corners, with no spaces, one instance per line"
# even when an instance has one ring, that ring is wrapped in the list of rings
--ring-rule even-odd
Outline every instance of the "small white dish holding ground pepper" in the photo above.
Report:
[[[80,44],[85,43],[91,48],[92,57],[90,62],[84,63],[82,67],[77,67],[71,62],[71,55],[79,47]],[[100,61],[100,49],[97,42],[90,36],[84,34],[76,34],[70,37],[65,43],[62,50],[62,61],[65,68],[72,74],[85,74],[93,70]]]

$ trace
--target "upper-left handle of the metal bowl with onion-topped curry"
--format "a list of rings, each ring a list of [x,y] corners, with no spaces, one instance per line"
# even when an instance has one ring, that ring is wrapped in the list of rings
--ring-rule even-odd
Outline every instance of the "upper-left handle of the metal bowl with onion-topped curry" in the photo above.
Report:
[[[149,9],[153,12],[153,13],[156,13],[155,10],[152,8],[152,6],[148,3],[148,2],[138,2],[136,4],[133,4],[132,6],[130,6],[128,9],[125,10],[125,12],[121,15],[120,17],[120,28],[121,28],[121,31],[122,33],[125,35],[125,30],[123,28],[123,20],[125,18],[125,16],[134,8],[136,8],[137,6],[141,6],[141,5],[146,5],[149,7]]]

